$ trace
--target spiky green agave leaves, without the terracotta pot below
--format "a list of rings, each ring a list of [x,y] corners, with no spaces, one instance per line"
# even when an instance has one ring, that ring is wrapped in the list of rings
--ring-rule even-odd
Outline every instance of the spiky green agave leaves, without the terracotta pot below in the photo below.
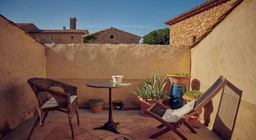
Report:
[[[168,98],[168,96],[166,95],[167,91],[164,91],[165,84],[168,82],[167,81],[164,83],[165,78],[161,81],[159,74],[157,79],[156,73],[155,76],[152,73],[151,82],[148,82],[144,79],[145,85],[142,85],[141,89],[137,87],[138,92],[132,92],[135,93],[139,98],[143,99],[160,100],[163,98]]]

